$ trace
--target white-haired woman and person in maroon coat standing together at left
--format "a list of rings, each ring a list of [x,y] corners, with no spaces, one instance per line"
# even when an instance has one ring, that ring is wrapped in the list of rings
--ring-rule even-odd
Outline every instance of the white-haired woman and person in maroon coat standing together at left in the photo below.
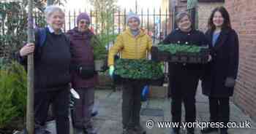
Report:
[[[98,45],[97,36],[89,29],[91,18],[85,12],[77,17],[78,27],[64,33],[61,30],[64,16],[61,8],[47,7],[48,25],[37,28],[35,42],[26,44],[17,54],[19,62],[26,65],[26,56],[34,52],[35,133],[48,133],[43,126],[52,104],[57,133],[69,134],[69,90],[72,87],[80,97],[75,99],[71,111],[75,133],[96,134],[91,113],[94,87],[98,82],[93,53],[93,46]]]

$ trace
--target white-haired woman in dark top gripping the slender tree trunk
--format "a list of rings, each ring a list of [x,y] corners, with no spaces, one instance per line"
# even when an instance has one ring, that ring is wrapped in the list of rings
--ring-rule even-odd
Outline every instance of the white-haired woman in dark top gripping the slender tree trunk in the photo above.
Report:
[[[69,134],[69,65],[71,54],[69,40],[61,31],[64,12],[56,6],[45,9],[47,27],[35,33],[35,43],[28,42],[18,52],[21,64],[27,64],[27,55],[34,53],[34,114],[35,133],[43,129],[48,108],[53,104],[58,134]]]

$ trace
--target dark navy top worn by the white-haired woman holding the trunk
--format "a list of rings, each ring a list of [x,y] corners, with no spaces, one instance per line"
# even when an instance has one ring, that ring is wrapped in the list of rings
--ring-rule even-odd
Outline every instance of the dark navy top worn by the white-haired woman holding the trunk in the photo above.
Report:
[[[68,87],[71,61],[70,42],[64,33],[56,35],[47,30],[45,44],[39,47],[36,34],[34,50],[34,89],[35,91],[59,90]],[[27,57],[18,62],[26,67]]]

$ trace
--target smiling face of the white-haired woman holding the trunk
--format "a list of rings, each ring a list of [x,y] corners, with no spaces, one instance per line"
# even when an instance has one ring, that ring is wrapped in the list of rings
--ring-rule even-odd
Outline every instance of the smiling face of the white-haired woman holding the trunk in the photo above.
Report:
[[[59,31],[65,22],[64,14],[62,12],[53,12],[48,18],[47,23],[54,31]]]

